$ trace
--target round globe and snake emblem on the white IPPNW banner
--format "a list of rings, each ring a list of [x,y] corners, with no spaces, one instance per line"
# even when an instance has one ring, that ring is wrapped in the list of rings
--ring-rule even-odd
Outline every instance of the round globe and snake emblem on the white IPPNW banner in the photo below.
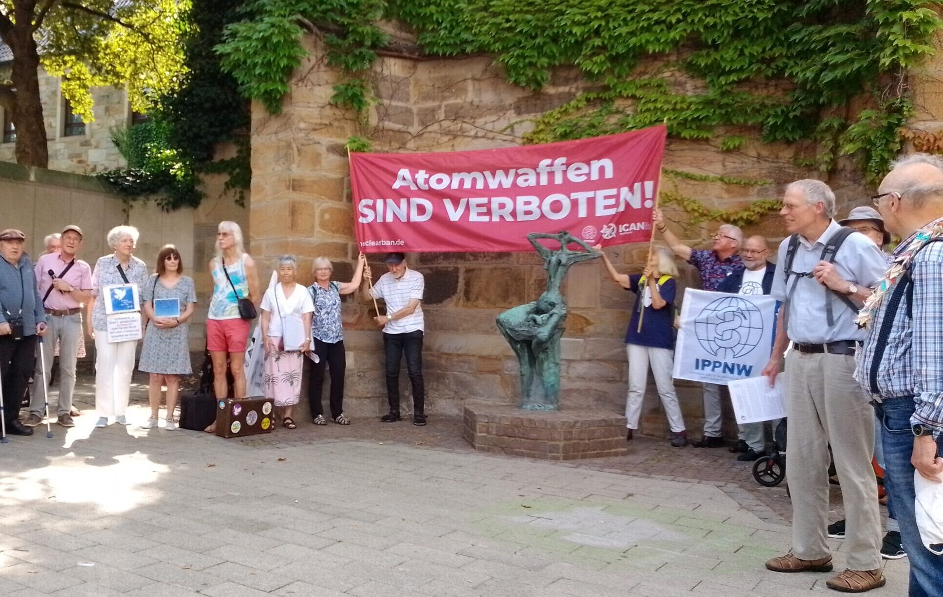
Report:
[[[694,334],[703,349],[715,357],[736,359],[760,343],[763,314],[743,298],[718,298],[694,318]]]

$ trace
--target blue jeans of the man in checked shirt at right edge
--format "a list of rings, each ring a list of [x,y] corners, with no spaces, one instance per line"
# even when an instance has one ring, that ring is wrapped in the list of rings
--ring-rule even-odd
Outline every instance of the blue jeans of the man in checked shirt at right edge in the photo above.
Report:
[[[914,398],[888,398],[874,405],[881,425],[881,443],[884,446],[885,490],[894,504],[894,514],[901,524],[903,550],[910,560],[910,597],[936,597],[943,587],[943,556],[935,556],[920,541],[920,531],[914,514],[914,466],[910,457],[914,452],[914,435],[910,415],[914,413]],[[936,453],[943,456],[943,438],[937,441]],[[887,483],[886,481],[890,481]]]

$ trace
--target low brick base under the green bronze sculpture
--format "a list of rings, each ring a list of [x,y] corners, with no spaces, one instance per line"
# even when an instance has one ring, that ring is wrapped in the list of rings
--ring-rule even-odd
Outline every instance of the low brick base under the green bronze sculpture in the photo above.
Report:
[[[479,452],[546,460],[625,456],[625,417],[608,411],[523,411],[467,403],[463,436]]]

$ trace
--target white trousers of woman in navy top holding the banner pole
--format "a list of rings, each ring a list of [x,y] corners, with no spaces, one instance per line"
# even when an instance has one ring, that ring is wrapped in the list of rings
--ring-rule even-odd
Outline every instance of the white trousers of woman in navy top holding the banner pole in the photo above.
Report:
[[[665,416],[672,433],[685,430],[685,419],[678,406],[678,395],[674,392],[671,369],[674,364],[674,351],[669,348],[640,347],[635,344],[625,345],[629,358],[629,393],[625,399],[625,427],[638,428],[638,417],[642,411],[642,399],[648,385],[649,365],[652,366],[655,387],[665,408]]]

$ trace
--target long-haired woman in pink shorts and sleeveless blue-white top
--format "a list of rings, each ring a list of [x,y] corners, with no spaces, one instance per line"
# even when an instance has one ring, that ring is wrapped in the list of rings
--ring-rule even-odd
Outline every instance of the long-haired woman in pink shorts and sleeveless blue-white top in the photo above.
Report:
[[[213,361],[213,389],[217,398],[225,398],[226,359],[233,374],[233,395],[245,397],[242,369],[249,339],[249,321],[240,318],[239,299],[248,297],[258,307],[258,272],[256,262],[242,245],[242,230],[231,221],[220,222],[216,233],[216,257],[209,262],[213,276],[213,298],[207,314],[207,349]],[[212,433],[216,424],[207,429]]]

